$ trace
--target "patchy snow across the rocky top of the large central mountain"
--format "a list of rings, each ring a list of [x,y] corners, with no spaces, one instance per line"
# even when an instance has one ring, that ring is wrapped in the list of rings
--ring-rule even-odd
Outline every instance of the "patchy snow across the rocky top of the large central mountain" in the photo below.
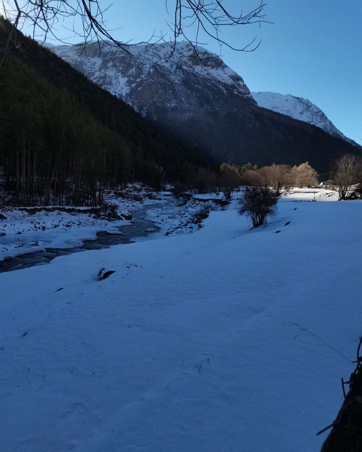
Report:
[[[249,89],[235,71],[218,55],[202,47],[198,49],[203,64],[193,57],[194,48],[186,41],[176,43],[171,58],[172,45],[166,42],[132,45],[129,48],[132,56],[108,42],[104,43],[101,54],[97,44],[86,46],[85,51],[76,45],[51,48],[95,83],[132,105],[132,89],[137,89],[140,81],[154,72],[156,66],[174,85],[183,83],[185,74],[194,77],[196,72],[201,79],[231,86],[236,94],[253,101]]]

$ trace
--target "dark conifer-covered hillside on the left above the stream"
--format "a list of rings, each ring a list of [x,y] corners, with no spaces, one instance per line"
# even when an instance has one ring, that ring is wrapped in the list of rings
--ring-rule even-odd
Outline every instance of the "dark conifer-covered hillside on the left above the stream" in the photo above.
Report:
[[[0,19],[2,46],[9,26]],[[1,203],[95,205],[105,188],[158,186],[186,160],[209,164],[52,52],[20,42],[0,71]]]

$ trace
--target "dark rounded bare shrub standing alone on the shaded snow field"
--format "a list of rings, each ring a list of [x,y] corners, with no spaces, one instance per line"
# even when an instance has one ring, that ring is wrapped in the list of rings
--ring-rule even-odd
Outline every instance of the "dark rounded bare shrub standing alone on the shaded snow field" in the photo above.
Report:
[[[275,215],[278,196],[269,187],[246,187],[239,200],[239,215],[250,217],[253,227],[265,223],[268,215]]]

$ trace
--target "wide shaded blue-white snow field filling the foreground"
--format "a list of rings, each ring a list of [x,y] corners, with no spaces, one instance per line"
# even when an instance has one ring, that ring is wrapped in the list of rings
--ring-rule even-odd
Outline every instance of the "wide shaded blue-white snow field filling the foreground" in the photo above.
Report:
[[[2,450],[319,450],[361,334],[362,202],[288,196],[252,231],[234,206],[0,274]]]

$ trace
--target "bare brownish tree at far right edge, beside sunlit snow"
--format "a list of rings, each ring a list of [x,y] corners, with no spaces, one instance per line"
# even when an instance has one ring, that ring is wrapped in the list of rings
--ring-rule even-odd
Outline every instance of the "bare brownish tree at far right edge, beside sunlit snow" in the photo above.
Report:
[[[336,161],[332,180],[338,191],[339,200],[346,199],[351,186],[359,182],[361,163],[361,159],[353,154],[343,155]]]

